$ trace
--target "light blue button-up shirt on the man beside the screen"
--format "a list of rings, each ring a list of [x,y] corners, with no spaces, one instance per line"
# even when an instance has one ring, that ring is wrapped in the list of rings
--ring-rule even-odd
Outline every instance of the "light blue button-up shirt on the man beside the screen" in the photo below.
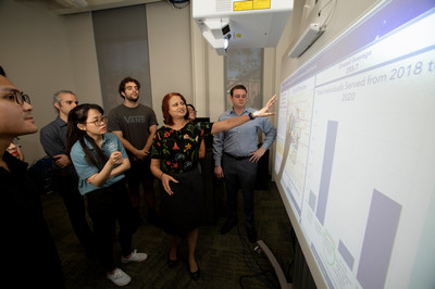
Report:
[[[254,111],[246,108],[241,115]],[[226,121],[237,116],[240,115],[237,115],[234,110],[229,110],[221,114],[219,121]],[[257,117],[229,130],[215,134],[213,139],[214,165],[221,165],[224,152],[234,156],[247,156],[249,153],[254,152],[258,149],[258,129],[261,129],[265,135],[261,147],[268,150],[276,138],[276,128],[268,117]]]

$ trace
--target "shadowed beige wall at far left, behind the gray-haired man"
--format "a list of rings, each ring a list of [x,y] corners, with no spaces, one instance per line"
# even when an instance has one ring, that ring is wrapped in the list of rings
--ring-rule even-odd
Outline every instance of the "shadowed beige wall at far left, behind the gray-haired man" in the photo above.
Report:
[[[75,90],[65,20],[40,5],[0,1],[0,65],[32,99],[40,128],[53,120],[52,95]],[[21,137],[26,161],[45,155],[39,134]]]

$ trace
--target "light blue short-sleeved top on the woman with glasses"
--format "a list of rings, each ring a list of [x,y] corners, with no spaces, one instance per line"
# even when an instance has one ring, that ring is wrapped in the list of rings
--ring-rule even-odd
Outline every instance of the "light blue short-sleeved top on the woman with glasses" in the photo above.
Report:
[[[105,133],[102,136],[102,144],[101,144],[101,150],[102,152],[110,158],[112,152],[114,151],[120,151],[123,155],[123,159],[127,158],[127,152],[124,149],[124,146],[122,144],[120,138],[111,133]],[[92,146],[90,144],[89,141],[85,139],[86,146],[90,149],[90,151],[95,154],[95,150]],[[86,159],[85,159],[85,151],[82,148],[82,144],[79,141],[74,143],[73,148],[71,149],[71,160],[73,161],[74,167],[77,172],[78,175],[78,190],[83,196],[85,196],[88,192],[110,187],[111,185],[115,184],[116,181],[120,181],[121,179],[124,178],[124,174],[117,175],[115,177],[109,178],[101,187],[96,187],[92,184],[86,181],[86,179],[98,172],[100,169],[92,164],[89,164]]]

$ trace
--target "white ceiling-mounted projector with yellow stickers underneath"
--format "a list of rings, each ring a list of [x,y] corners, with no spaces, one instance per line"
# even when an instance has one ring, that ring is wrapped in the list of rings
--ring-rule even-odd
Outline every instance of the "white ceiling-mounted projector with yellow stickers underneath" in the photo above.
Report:
[[[227,50],[275,47],[293,0],[194,0],[192,17],[220,55]]]

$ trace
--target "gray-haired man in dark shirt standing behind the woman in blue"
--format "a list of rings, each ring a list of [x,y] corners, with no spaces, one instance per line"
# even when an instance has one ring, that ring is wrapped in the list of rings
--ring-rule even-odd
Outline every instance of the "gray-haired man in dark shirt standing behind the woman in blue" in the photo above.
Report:
[[[53,160],[54,189],[63,199],[73,230],[85,247],[86,254],[94,257],[94,240],[86,218],[85,201],[78,191],[77,174],[65,153],[67,115],[77,103],[77,97],[70,90],[60,90],[54,93],[53,105],[59,115],[53,122],[42,127],[40,142],[47,155]]]

